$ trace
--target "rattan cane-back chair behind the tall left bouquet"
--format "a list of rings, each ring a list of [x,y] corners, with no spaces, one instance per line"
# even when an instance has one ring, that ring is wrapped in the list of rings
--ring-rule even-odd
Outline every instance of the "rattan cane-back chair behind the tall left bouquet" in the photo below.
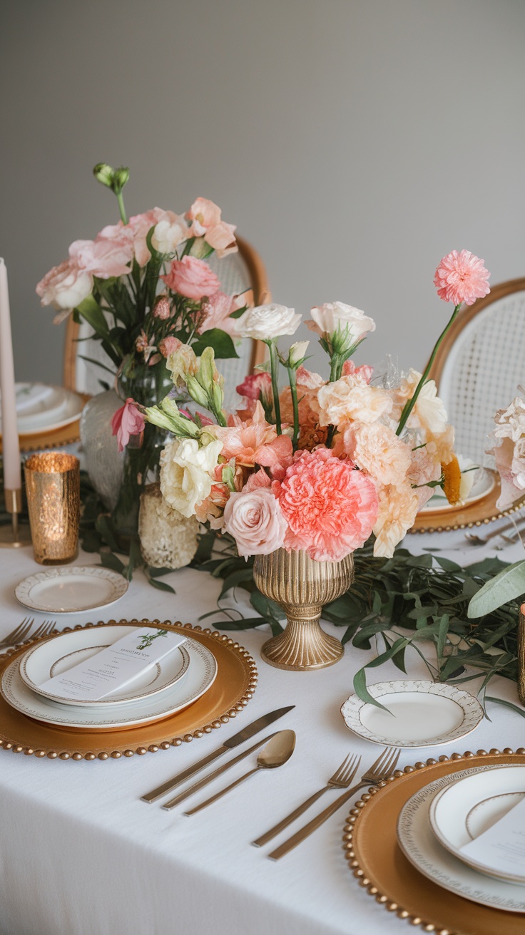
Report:
[[[251,290],[255,305],[270,302],[270,291],[265,266],[254,248],[237,237],[239,252],[228,253],[219,259],[216,253],[208,258],[211,269],[221,282],[221,289],[227,295],[238,295]],[[90,338],[92,329],[89,324],[76,324],[72,316],[66,325],[66,345],[64,354],[64,385],[78,393],[95,396],[100,393],[100,380],[111,382],[107,370],[94,367],[84,357],[99,361],[111,367],[108,356],[102,350],[100,342]],[[221,360],[219,369],[225,377],[226,408],[235,397],[235,387],[242,382],[246,374],[251,373],[255,364],[264,360],[265,345],[260,341],[242,341],[237,351],[239,358]]]

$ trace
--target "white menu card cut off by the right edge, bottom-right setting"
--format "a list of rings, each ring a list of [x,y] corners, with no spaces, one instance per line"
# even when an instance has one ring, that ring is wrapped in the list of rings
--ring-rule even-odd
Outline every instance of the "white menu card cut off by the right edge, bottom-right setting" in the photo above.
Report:
[[[525,873],[525,798],[474,841],[464,844],[461,853],[488,870]]]

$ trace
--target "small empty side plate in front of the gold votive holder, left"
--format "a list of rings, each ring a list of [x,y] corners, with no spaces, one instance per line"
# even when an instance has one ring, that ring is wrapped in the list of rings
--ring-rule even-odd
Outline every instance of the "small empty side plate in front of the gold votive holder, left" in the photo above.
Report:
[[[47,568],[24,578],[15,588],[23,607],[44,613],[80,613],[114,604],[127,591],[122,575],[97,565]]]

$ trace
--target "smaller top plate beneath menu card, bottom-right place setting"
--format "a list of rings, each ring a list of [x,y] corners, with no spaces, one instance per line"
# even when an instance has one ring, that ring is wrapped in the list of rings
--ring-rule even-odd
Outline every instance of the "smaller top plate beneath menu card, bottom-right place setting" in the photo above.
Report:
[[[489,767],[443,789],[430,805],[430,825],[438,841],[463,863],[501,880],[525,884],[512,862],[508,873],[462,853],[461,848],[487,831],[525,796],[525,764]],[[515,872],[513,872],[515,870]]]

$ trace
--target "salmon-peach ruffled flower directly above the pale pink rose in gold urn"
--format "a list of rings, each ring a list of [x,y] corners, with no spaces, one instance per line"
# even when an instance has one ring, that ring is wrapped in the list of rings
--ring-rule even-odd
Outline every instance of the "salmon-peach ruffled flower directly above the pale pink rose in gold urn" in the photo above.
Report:
[[[284,472],[292,460],[292,442],[286,435],[277,435],[274,425],[270,425],[264,410],[257,400],[254,415],[242,422],[239,416],[230,415],[228,425],[216,425],[213,434],[223,442],[222,454],[229,461],[245,468],[255,464],[270,468],[272,475]]]

